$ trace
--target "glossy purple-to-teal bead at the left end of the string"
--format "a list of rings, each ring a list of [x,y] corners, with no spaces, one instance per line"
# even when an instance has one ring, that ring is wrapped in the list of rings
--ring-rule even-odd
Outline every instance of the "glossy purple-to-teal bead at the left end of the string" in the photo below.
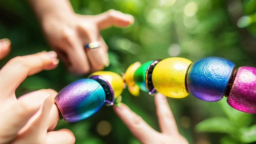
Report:
[[[67,122],[86,119],[105,102],[102,86],[93,79],[80,79],[64,87],[55,97],[62,117]]]

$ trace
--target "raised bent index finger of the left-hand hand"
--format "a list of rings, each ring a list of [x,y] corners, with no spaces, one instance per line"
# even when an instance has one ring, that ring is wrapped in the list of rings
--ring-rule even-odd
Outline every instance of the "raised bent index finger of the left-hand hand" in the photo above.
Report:
[[[0,101],[14,95],[16,88],[27,76],[55,68],[58,64],[56,57],[57,54],[51,51],[11,59],[0,70]]]

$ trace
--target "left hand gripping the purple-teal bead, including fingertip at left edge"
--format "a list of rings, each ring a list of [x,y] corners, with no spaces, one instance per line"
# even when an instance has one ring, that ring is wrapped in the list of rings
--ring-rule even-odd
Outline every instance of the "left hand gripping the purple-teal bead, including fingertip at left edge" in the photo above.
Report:
[[[8,51],[8,41],[0,40],[0,57]],[[6,47],[7,46],[7,47]],[[75,137],[67,129],[53,131],[59,116],[54,104],[57,92],[42,89],[18,99],[16,88],[27,76],[57,67],[54,51],[40,52],[11,59],[0,70],[0,144],[74,144]]]

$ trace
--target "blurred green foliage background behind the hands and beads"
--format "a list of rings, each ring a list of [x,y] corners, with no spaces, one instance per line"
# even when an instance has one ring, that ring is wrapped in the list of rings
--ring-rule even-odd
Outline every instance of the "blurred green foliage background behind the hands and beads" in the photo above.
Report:
[[[129,28],[102,31],[109,46],[110,66],[105,70],[118,74],[139,61],[141,63],[171,56],[191,61],[219,56],[233,61],[236,67],[256,67],[256,0],[70,0],[76,13],[94,15],[109,9],[135,17]],[[43,50],[49,51],[39,24],[24,0],[0,1],[0,38],[12,41],[10,55],[0,62]],[[239,28],[244,15],[251,21]],[[253,23],[254,22],[254,23]],[[28,77],[17,89],[17,96],[30,91],[52,88],[61,90],[84,76],[68,73],[62,63],[51,71]],[[131,96],[127,90],[122,102],[159,131],[154,97],[141,92]],[[193,144],[239,144],[256,141],[255,115],[236,111],[226,98],[220,102],[204,102],[192,95],[184,99],[168,99],[180,133]],[[111,132],[102,136],[97,124],[111,124]],[[198,124],[198,125],[197,125]],[[76,123],[60,121],[56,129],[68,128],[78,144],[137,144],[111,107],[104,106],[95,115]],[[210,133],[206,133],[210,132]]]

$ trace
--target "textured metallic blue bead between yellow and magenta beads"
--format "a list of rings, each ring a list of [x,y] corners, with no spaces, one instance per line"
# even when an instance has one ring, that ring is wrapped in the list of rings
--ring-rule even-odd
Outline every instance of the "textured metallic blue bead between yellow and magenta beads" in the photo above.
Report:
[[[220,57],[206,57],[195,61],[187,73],[188,91],[204,101],[219,101],[234,70],[235,64]]]

